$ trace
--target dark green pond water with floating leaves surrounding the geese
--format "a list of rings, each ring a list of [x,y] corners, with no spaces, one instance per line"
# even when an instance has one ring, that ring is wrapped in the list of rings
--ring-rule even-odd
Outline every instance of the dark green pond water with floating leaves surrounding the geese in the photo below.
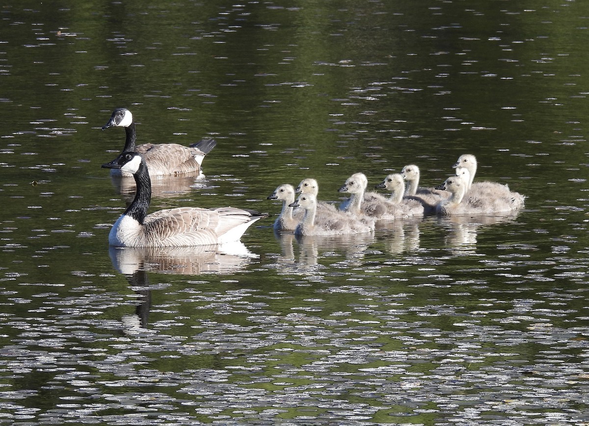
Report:
[[[38,3],[0,8],[0,424],[589,424],[588,4]],[[116,106],[217,139],[153,209],[465,152],[527,208],[109,251]]]

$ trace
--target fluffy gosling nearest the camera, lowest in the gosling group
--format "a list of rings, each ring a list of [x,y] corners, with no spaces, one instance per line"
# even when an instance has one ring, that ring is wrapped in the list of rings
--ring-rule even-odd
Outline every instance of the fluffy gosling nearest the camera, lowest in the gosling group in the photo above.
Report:
[[[301,207],[305,210],[305,217],[294,230],[296,235],[361,234],[374,229],[360,219],[337,210],[328,215],[317,216],[317,198],[313,194],[299,195],[290,207]]]

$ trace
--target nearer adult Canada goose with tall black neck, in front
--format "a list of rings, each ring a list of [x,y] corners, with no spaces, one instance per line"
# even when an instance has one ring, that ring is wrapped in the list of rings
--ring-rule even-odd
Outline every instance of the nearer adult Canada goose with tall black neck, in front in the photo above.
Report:
[[[104,168],[133,174],[137,192],[131,205],[113,225],[108,242],[115,247],[183,247],[238,241],[246,229],[267,214],[233,207],[180,207],[147,214],[151,181],[145,160],[137,152],[123,152]]]

